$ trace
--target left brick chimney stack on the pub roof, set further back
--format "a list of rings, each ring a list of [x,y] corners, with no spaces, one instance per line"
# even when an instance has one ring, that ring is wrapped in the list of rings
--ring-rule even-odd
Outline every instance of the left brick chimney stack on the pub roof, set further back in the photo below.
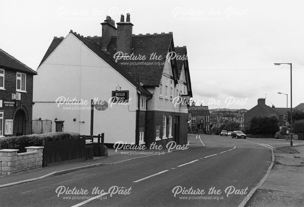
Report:
[[[116,36],[117,29],[115,27],[115,21],[112,20],[110,16],[107,16],[105,22],[100,24],[102,25],[101,49],[106,51],[112,36]]]

